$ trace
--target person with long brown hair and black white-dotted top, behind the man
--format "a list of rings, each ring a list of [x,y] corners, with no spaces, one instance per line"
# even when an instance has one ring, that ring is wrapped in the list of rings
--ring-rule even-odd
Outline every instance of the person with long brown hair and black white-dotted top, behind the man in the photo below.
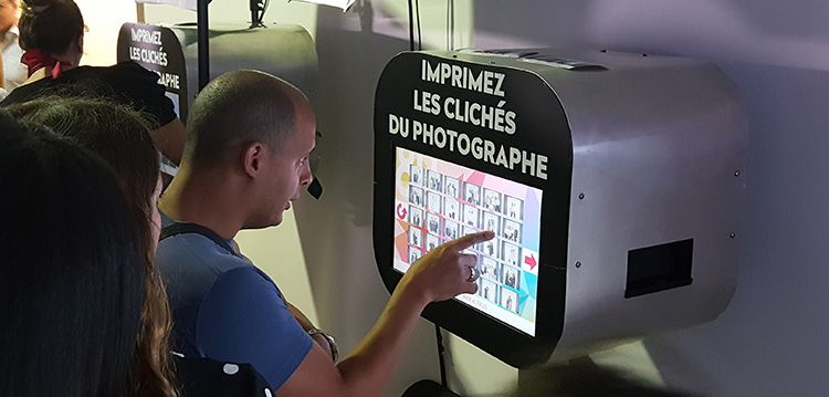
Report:
[[[261,396],[270,388],[250,365],[182,358],[169,352],[170,310],[155,269],[160,229],[156,206],[160,194],[159,155],[153,147],[145,115],[123,105],[82,97],[42,97],[7,109],[18,119],[46,126],[99,156],[115,171],[127,200],[144,220],[144,305],[125,395]],[[234,368],[233,376],[227,368]]]

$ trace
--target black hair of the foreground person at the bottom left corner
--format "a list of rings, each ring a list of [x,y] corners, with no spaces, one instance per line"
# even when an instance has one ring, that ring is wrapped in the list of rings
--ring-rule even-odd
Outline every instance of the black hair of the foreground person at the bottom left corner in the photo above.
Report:
[[[127,395],[147,223],[102,159],[0,114],[0,395]]]

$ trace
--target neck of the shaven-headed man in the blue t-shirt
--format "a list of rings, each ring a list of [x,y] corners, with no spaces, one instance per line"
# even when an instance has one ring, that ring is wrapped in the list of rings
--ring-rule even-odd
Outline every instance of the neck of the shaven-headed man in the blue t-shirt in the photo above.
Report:
[[[242,229],[244,219],[238,208],[238,191],[233,181],[221,173],[195,175],[186,167],[165,190],[159,200],[159,209],[178,222],[196,223],[206,227],[223,239],[232,239]],[[216,180],[228,184],[217,186]]]

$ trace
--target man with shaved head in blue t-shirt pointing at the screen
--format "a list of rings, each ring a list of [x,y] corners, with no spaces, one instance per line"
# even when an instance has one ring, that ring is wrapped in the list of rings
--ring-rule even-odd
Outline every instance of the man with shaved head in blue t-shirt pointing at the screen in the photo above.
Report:
[[[426,254],[358,348],[335,364],[328,343],[312,342],[313,326],[232,241],[240,229],[281,223],[312,181],[316,127],[307,98],[272,75],[233,72],[199,94],[187,128],[181,167],[160,202],[169,237],[157,255],[174,311],[174,347],[185,355],[251,363],[280,396],[377,396],[426,305],[476,292],[476,259],[461,251],[492,232]],[[175,230],[182,224],[200,231]]]

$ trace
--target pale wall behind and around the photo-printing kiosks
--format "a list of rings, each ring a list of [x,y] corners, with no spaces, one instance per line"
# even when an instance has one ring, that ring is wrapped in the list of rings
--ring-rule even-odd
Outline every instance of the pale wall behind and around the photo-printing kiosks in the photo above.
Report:
[[[424,15],[430,21],[445,17],[445,1],[420,2],[424,10],[432,8]],[[214,1],[213,19],[244,20],[244,3]],[[279,244],[275,234],[262,234],[269,237],[250,244],[264,257],[270,252],[276,263],[269,271],[283,288],[303,290],[311,285],[308,278],[314,280],[309,291],[297,292],[304,294],[298,300],[303,302],[292,300],[315,307],[318,322],[346,347],[368,331],[388,297],[371,245],[371,112],[382,66],[408,49],[399,10],[403,2],[375,1],[371,8],[367,0],[360,3],[359,13],[343,13],[272,2],[269,20],[309,27],[317,41],[316,108],[325,134],[319,145],[326,191],[322,201],[297,206],[301,247],[297,240],[270,247]],[[384,7],[387,3],[393,7]],[[739,285],[716,321],[649,338],[644,347],[671,386],[715,396],[826,394],[829,2],[478,0],[462,6],[468,6],[461,12],[469,18],[465,28],[474,25],[474,33],[462,41],[482,48],[590,45],[695,56],[723,67],[736,83],[751,122],[749,231],[741,240]],[[149,20],[171,20],[165,12],[151,12],[148,7]],[[440,23],[430,23],[427,45],[443,45]],[[246,241],[243,244],[249,249]],[[293,259],[283,261],[285,254]],[[496,394],[514,382],[513,369],[458,339],[449,344],[457,390]],[[649,365],[647,355],[636,361]],[[437,378],[437,368],[433,330],[423,322],[387,394],[399,395],[422,377]]]

